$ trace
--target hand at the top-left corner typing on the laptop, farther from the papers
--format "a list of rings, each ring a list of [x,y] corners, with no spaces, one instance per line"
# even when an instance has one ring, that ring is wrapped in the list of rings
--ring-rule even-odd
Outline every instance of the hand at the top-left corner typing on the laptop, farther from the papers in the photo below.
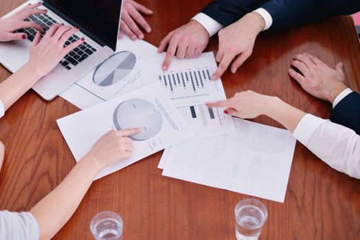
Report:
[[[27,34],[24,33],[14,33],[14,31],[21,28],[30,28],[34,27],[40,32],[44,32],[43,27],[40,25],[24,21],[28,16],[32,14],[45,14],[46,10],[37,9],[41,3],[36,3],[32,5],[27,5],[25,8],[22,8],[12,16],[0,19],[0,42],[8,42],[11,40],[24,40],[27,38]]]

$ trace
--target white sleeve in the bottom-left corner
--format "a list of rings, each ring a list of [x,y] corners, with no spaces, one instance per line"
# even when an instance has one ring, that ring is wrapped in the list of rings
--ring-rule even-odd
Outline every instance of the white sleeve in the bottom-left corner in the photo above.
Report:
[[[0,239],[38,240],[38,222],[28,212],[0,211]]]

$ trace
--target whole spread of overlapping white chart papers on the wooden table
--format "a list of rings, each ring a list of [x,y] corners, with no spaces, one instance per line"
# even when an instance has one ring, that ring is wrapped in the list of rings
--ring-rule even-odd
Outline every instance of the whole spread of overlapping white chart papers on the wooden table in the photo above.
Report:
[[[60,95],[86,109],[58,120],[76,160],[109,130],[140,127],[146,131],[132,136],[133,156],[97,178],[166,148],[159,163],[164,176],[283,202],[293,136],[207,108],[226,99],[221,80],[211,80],[213,53],[173,59],[166,72],[163,60],[153,45],[125,37],[113,56]]]

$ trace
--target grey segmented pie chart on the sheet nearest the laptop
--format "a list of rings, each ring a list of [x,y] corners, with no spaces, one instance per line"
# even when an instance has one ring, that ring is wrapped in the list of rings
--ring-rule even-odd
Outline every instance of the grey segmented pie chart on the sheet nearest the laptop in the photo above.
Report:
[[[100,63],[93,72],[93,82],[98,86],[111,86],[126,77],[136,64],[131,51],[120,51]]]

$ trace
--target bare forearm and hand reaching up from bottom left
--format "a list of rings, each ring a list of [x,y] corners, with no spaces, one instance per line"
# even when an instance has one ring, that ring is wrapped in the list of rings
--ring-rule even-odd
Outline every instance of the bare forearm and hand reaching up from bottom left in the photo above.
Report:
[[[63,182],[30,210],[38,222],[40,239],[51,239],[63,228],[78,208],[98,171],[132,155],[133,143],[126,136],[140,131],[110,131],[102,136]]]

